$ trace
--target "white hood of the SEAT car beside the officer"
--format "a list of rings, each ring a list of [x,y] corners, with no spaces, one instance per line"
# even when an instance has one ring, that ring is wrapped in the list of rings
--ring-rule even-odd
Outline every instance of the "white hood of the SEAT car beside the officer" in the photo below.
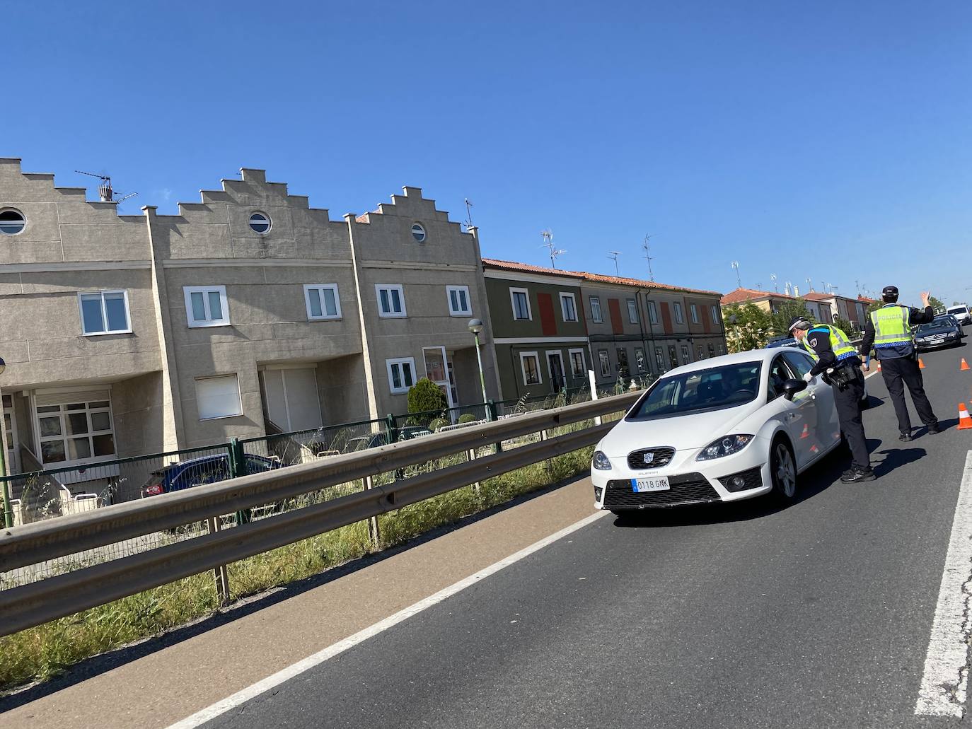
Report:
[[[704,448],[723,435],[754,434],[752,424],[746,421],[761,405],[762,401],[757,399],[736,407],[658,420],[622,420],[605,435],[599,449],[610,458],[627,456],[639,448],[669,446],[679,451]]]

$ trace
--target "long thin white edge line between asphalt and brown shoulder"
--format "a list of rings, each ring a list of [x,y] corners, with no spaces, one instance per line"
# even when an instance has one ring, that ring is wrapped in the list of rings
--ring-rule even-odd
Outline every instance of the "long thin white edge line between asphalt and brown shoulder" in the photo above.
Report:
[[[488,577],[491,574],[500,572],[501,570],[503,570],[503,568],[509,567],[510,565],[519,562],[524,557],[529,557],[534,552],[542,549],[543,547],[549,544],[552,544],[558,539],[567,537],[569,534],[576,532],[578,529],[582,529],[583,527],[586,527],[588,524],[597,521],[601,517],[607,516],[608,513],[609,513],[608,511],[595,511],[590,516],[584,517],[578,522],[574,522],[571,526],[565,527],[564,529],[550,535],[549,537],[544,537],[539,541],[535,541],[530,546],[524,547],[523,549],[516,552],[515,554],[511,554],[508,557],[500,560],[495,564],[490,565],[489,567],[483,570],[480,570],[475,574],[470,574],[465,579],[461,579],[455,584],[449,585],[443,590],[439,590],[434,595],[430,595],[424,600],[420,600],[419,602],[415,603],[412,606],[409,606],[408,608],[399,610],[399,612],[396,612],[394,615],[386,617],[384,620],[381,620],[370,627],[364,628],[364,630],[355,633],[353,636],[345,638],[343,641],[335,642],[333,645],[329,645],[324,650],[321,650],[315,653],[314,655],[308,656],[307,658],[304,658],[302,661],[297,661],[294,665],[288,666],[282,671],[278,671],[273,676],[265,677],[262,680],[258,681],[257,683],[254,683],[252,686],[248,686],[247,688],[244,688],[241,691],[237,691],[232,696],[227,697],[223,701],[217,702],[216,704],[213,704],[211,707],[207,707],[202,711],[193,713],[188,718],[185,718],[182,721],[178,721],[175,724],[172,724],[171,726],[169,726],[168,729],[191,729],[192,727],[200,726],[201,724],[204,724],[207,721],[216,718],[222,713],[228,712],[229,710],[235,707],[245,704],[248,701],[251,701],[252,699],[255,699],[256,697],[260,696],[261,693],[265,691],[269,691],[271,688],[279,686],[281,683],[284,683],[285,681],[288,681],[295,676],[299,676],[300,674],[314,668],[315,666],[321,665],[322,663],[329,660],[330,658],[333,658],[335,655],[343,653],[345,650],[348,650],[349,648],[353,648],[358,643],[364,642],[367,639],[372,638],[373,636],[376,636],[379,633],[382,633],[383,631],[386,631],[389,628],[398,625],[402,620],[407,620],[412,615],[416,615],[419,612],[422,612],[422,610],[426,608],[432,608],[434,605],[441,603],[443,600],[446,600],[447,598],[450,598],[453,595],[462,592],[467,587],[475,584],[476,582],[483,579],[484,577]]]

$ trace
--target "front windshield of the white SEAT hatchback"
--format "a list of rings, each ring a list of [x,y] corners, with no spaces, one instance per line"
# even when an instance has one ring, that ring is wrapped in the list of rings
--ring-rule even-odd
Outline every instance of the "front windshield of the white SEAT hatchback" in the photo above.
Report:
[[[761,367],[759,362],[743,362],[663,377],[627,420],[655,420],[751,402],[759,392]]]

